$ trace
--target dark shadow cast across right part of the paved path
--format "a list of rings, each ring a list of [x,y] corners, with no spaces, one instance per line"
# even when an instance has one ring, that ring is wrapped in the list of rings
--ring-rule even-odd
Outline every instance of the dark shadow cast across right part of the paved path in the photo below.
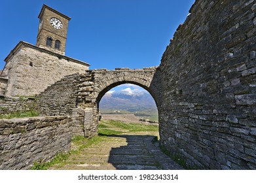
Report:
[[[111,148],[108,163],[120,170],[183,169],[158,146],[152,135],[104,135],[125,138],[127,145]]]

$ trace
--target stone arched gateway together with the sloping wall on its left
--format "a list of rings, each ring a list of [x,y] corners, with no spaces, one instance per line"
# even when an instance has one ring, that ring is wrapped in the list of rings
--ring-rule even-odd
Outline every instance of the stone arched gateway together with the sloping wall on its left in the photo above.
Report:
[[[107,91],[120,84],[136,84],[151,93],[159,107],[160,82],[158,67],[89,70],[82,75],[66,76],[48,87],[39,95],[38,108],[44,115],[74,116],[73,132],[92,137],[98,134],[98,107]]]

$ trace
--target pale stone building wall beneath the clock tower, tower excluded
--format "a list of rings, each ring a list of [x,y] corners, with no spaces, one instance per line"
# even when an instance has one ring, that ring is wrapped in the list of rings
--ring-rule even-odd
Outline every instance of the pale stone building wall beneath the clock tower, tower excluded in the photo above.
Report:
[[[5,95],[30,96],[43,92],[64,76],[84,73],[88,64],[20,42],[5,60],[9,77]]]

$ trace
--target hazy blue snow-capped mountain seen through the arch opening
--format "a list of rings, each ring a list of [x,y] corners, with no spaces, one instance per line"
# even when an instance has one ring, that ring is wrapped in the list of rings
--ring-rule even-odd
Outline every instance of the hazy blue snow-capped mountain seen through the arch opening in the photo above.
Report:
[[[131,91],[127,88],[121,92],[107,92],[100,101],[100,110],[139,112],[156,109],[155,101],[149,93]]]

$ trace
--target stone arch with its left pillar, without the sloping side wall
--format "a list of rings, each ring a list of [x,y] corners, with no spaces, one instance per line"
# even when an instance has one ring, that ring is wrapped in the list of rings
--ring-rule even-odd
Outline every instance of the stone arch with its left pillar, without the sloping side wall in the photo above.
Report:
[[[158,67],[145,69],[90,70],[81,76],[77,95],[77,107],[84,111],[84,136],[98,134],[99,103],[101,97],[120,84],[136,84],[149,92],[160,106],[160,72]]]

